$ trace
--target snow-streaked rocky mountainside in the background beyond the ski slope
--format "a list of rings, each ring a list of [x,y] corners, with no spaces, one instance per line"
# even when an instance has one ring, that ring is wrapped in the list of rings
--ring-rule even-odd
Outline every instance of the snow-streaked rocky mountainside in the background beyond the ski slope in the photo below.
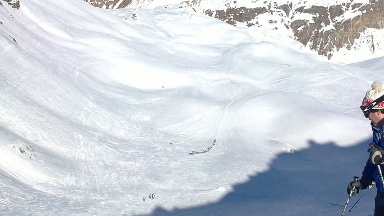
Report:
[[[228,24],[284,32],[333,62],[345,59],[354,62],[384,55],[384,0],[85,1],[109,9],[184,3],[199,14]],[[369,56],[362,56],[367,52]]]

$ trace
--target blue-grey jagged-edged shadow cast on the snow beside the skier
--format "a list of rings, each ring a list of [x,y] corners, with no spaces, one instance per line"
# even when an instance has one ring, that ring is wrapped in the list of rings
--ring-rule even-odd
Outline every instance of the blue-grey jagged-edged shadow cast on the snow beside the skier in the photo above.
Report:
[[[353,176],[361,177],[370,140],[351,147],[309,141],[309,148],[283,153],[270,169],[235,185],[215,203],[186,209],[157,207],[150,216],[330,216],[341,215]],[[365,195],[351,212],[348,210]],[[376,188],[352,197],[345,216],[371,216]]]

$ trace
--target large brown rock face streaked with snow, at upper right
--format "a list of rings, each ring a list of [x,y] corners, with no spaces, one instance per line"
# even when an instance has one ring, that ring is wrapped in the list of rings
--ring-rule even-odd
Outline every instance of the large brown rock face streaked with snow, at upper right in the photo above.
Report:
[[[335,50],[338,51],[343,47],[351,49],[355,40],[360,38],[360,33],[366,28],[383,28],[383,9],[383,0],[367,5],[351,2],[329,8],[312,6],[310,9],[296,9],[297,13],[314,15],[313,20],[295,20],[290,27],[297,41],[304,45],[309,44],[311,49],[330,59]],[[351,19],[340,19],[344,13],[351,11],[356,11],[355,13],[359,15]],[[371,51],[374,50],[374,43],[371,43]]]

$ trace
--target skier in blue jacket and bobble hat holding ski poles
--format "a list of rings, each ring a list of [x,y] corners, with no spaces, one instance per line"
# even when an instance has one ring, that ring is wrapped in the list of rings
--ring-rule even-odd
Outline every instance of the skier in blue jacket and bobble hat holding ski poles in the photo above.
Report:
[[[371,120],[373,140],[368,149],[369,158],[362,171],[360,180],[351,181],[347,192],[356,195],[361,189],[376,183],[375,216],[384,216],[384,89],[381,82],[372,83],[372,90],[366,92],[360,106],[365,118]],[[356,193],[355,193],[356,190]]]

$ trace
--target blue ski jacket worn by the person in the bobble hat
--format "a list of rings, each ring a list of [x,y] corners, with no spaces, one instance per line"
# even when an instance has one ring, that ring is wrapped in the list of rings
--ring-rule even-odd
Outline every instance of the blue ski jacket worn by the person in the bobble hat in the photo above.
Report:
[[[384,126],[372,126],[373,140],[375,145],[380,146],[384,149]],[[380,166],[384,172],[384,165]],[[376,188],[378,192],[384,193],[384,188],[380,179],[380,174],[377,169],[377,165],[372,164],[371,160],[368,159],[362,174],[367,177],[370,181],[376,182]]]

